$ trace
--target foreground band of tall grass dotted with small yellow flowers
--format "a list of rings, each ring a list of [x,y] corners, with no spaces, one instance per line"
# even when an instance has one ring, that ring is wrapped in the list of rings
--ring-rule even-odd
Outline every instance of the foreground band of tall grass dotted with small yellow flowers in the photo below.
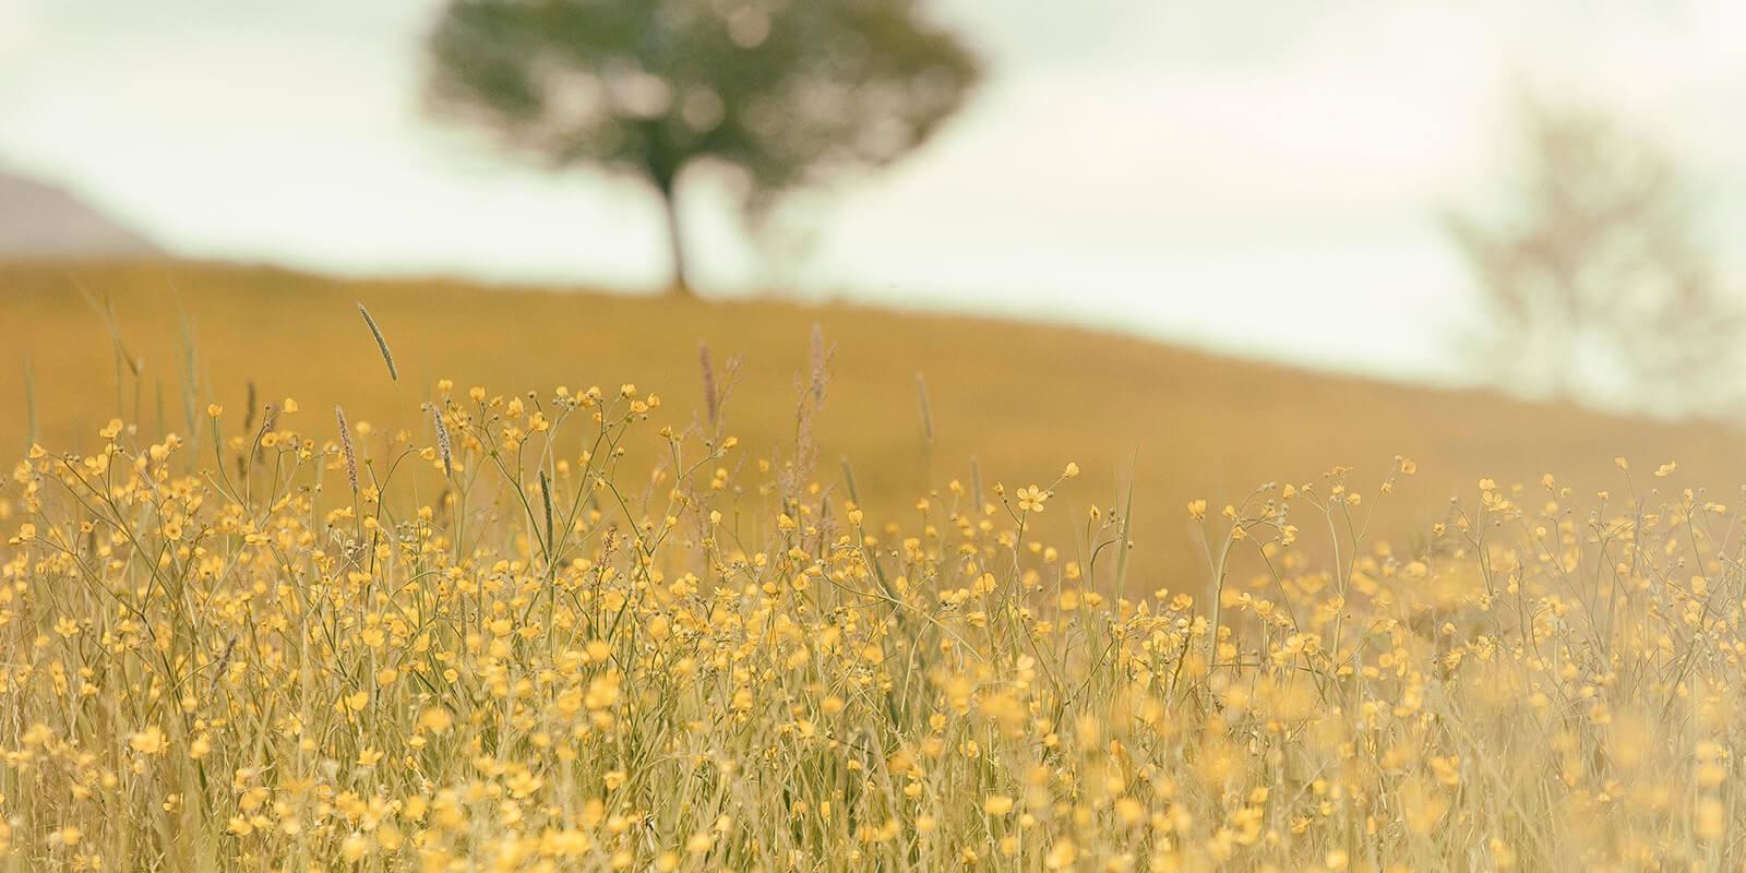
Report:
[[[1076,464],[870,517],[814,468],[828,361],[775,461],[629,384],[447,381],[421,433],[31,447],[0,868],[1741,864],[1746,541],[1671,464],[1484,480],[1399,548],[1416,464],[1334,468],[1191,503],[1205,574],[1145,578],[1131,496],[1039,540]]]

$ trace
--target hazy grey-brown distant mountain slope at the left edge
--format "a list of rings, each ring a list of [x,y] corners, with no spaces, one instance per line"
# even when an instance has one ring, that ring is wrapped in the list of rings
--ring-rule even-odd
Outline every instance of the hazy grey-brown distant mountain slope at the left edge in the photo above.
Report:
[[[0,258],[115,258],[159,248],[77,196],[0,173]]]

